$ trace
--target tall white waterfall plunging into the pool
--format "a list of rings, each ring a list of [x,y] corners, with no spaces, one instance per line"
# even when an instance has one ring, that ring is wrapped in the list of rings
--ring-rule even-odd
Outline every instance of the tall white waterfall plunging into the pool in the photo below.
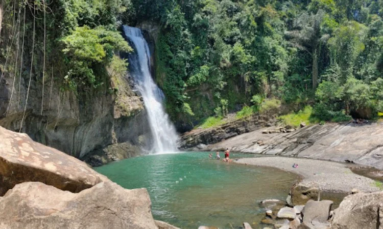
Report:
[[[141,93],[148,112],[148,121],[153,135],[152,152],[167,153],[177,151],[178,135],[166,112],[162,101],[164,95],[154,83],[150,73],[150,51],[139,28],[124,25],[125,36],[129,39],[134,53],[129,55],[131,74]]]

